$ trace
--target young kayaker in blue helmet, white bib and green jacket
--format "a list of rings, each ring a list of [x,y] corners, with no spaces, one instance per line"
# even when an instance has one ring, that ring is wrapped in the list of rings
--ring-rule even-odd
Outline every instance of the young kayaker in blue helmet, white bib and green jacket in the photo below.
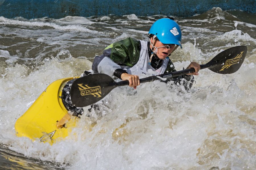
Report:
[[[93,73],[104,73],[114,79],[128,80],[129,86],[136,89],[136,86],[140,85],[140,74],[152,76],[176,71],[169,56],[178,46],[182,48],[179,25],[172,19],[162,18],[151,26],[148,33],[148,42],[127,38],[108,46],[101,56],[95,57],[92,64]],[[191,87],[193,75],[198,75],[200,65],[191,62],[187,69],[192,67],[195,73],[171,80],[181,84],[185,79],[190,83],[182,81],[185,88]]]

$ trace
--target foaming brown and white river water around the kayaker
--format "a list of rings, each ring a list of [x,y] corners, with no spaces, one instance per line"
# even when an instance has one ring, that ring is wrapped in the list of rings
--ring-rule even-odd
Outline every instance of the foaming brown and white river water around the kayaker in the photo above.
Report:
[[[94,56],[113,42],[147,40],[150,25],[163,17],[0,17],[1,167],[256,169],[256,15],[220,8],[175,17],[183,48],[171,59],[181,70],[245,45],[236,73],[201,70],[189,93],[159,81],[115,88],[99,111],[82,115],[69,139],[51,146],[16,137],[17,118],[51,82],[90,70]]]

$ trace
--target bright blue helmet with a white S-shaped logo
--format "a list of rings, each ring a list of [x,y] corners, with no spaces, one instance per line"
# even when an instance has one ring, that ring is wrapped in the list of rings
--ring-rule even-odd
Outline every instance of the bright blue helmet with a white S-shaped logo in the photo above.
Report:
[[[169,18],[162,18],[154,22],[149,34],[154,34],[163,44],[177,44],[181,46],[181,30],[177,22]]]

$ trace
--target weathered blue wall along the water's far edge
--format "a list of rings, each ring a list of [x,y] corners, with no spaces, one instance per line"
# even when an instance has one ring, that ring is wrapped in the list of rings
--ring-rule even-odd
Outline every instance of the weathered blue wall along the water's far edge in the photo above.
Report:
[[[63,18],[65,16],[201,14],[212,7],[256,13],[255,0],[0,0],[0,16]]]

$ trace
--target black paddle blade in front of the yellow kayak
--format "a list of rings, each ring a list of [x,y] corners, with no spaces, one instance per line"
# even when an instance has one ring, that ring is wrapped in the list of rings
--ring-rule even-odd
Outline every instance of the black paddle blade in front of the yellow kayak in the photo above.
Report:
[[[77,78],[71,85],[71,101],[75,107],[92,105],[115,88],[115,81],[105,74]]]

